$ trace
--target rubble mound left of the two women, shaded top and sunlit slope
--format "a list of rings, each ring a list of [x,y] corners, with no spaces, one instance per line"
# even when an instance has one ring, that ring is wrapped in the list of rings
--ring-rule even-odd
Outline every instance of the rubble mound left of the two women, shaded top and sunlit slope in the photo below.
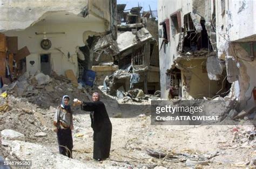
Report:
[[[56,145],[52,119],[62,96],[68,94],[71,98],[86,101],[89,100],[89,93],[96,90],[100,92],[92,87],[77,89],[61,76],[24,73],[16,82],[4,85],[1,89],[0,131],[11,129],[24,134],[24,140],[30,143]],[[0,156],[9,154],[6,152],[8,148],[1,146],[1,150]]]

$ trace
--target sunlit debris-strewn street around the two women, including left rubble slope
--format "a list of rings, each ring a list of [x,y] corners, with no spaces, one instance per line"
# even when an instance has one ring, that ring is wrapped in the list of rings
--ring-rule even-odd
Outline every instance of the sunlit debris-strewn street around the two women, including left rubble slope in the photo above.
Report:
[[[84,100],[89,100],[86,93],[100,90],[97,87],[79,90],[68,82],[55,78],[51,78],[50,81],[41,87],[38,85],[31,87],[32,91],[38,91],[37,96],[14,97],[16,94],[14,87],[8,90],[8,93],[14,95],[0,97],[1,105],[6,105],[5,109],[1,108],[0,115],[2,119],[0,156],[7,159],[32,160],[33,165],[44,168],[61,165],[107,168],[129,166],[176,168],[204,165],[206,168],[236,168],[255,163],[253,156],[256,139],[253,125],[151,125],[149,101],[122,103],[122,99],[116,100],[104,93],[102,99],[107,105],[107,112],[113,125],[111,157],[100,163],[93,161],[93,131],[89,114],[82,112],[79,107],[72,107],[75,112],[75,130],[72,132],[75,160],[70,161],[58,154],[56,133],[52,132],[52,118],[59,98],[64,94],[60,89],[69,88],[70,91],[65,94],[74,98],[78,96],[78,99]],[[58,94],[48,91],[48,88],[57,89]],[[241,123],[246,122],[248,123],[241,121]],[[5,129],[13,131],[5,131]],[[21,136],[12,133],[14,131],[21,133]],[[254,135],[248,134],[249,131],[254,132]],[[16,141],[9,141],[12,139]],[[62,163],[59,163],[59,160]]]

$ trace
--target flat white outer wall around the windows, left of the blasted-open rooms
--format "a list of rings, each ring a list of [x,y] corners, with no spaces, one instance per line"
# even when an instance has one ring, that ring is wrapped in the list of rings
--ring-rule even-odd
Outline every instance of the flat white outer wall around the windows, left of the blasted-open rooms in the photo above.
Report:
[[[170,15],[182,9],[181,14],[181,26],[183,26],[183,17],[186,13],[192,11],[192,0],[186,1],[160,1],[158,0],[158,29],[163,32],[163,26],[159,25],[160,22],[163,22],[165,19],[171,19]],[[169,22],[169,27],[171,27],[171,22]],[[163,34],[163,33],[162,33]],[[177,46],[179,41],[179,34],[174,35],[170,29],[170,42],[163,43],[163,38],[159,38],[159,68],[160,68],[160,89],[161,97],[164,99],[168,98],[169,95],[169,86],[166,85],[166,71],[173,67],[174,60],[177,59]],[[162,47],[161,47],[162,46]]]

